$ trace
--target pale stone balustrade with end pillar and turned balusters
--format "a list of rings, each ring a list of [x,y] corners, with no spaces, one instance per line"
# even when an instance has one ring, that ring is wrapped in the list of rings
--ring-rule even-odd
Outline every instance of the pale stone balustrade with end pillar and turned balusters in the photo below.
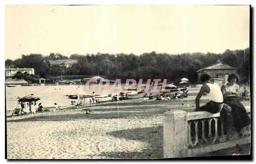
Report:
[[[245,106],[250,116],[250,106]],[[250,125],[243,135],[226,124],[220,113],[168,111],[164,113],[164,158],[196,156],[250,143]]]

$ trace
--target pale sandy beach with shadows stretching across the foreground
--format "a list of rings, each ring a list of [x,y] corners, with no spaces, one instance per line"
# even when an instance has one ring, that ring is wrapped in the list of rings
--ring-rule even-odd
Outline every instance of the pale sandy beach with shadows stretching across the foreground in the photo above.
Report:
[[[8,159],[163,158],[163,114],[193,107],[195,96],[134,98],[86,107],[94,114],[79,108],[7,117]]]

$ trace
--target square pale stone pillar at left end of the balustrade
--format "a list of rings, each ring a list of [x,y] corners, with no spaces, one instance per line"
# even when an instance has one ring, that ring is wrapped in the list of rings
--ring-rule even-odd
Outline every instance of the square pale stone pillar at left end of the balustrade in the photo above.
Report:
[[[168,111],[164,113],[164,158],[186,157],[188,155],[187,126],[187,112]]]

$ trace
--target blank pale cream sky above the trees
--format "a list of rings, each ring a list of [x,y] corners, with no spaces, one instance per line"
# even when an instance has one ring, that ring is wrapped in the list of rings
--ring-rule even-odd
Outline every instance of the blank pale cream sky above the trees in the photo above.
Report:
[[[5,59],[22,54],[215,52],[249,47],[249,6],[6,6]]]

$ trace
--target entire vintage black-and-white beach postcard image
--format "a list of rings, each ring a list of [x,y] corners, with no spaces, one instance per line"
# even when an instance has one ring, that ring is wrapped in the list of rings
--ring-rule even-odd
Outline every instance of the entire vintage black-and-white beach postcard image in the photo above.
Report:
[[[250,8],[7,5],[6,158],[250,155]]]

